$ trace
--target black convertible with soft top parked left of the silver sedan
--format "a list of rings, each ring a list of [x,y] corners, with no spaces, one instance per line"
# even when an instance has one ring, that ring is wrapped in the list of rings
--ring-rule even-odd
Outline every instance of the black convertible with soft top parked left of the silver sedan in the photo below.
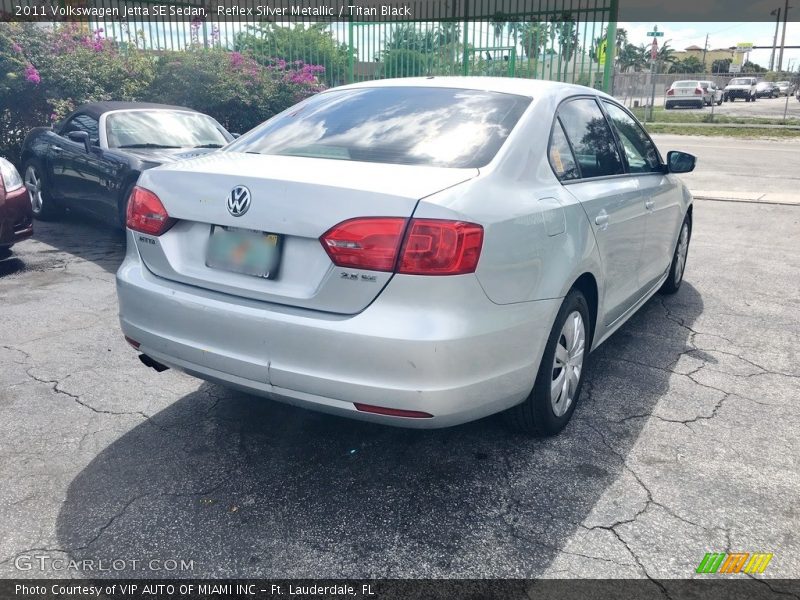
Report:
[[[75,208],[124,227],[128,196],[143,170],[213,152],[233,137],[190,108],[96,102],[28,134],[22,177],[39,219]]]

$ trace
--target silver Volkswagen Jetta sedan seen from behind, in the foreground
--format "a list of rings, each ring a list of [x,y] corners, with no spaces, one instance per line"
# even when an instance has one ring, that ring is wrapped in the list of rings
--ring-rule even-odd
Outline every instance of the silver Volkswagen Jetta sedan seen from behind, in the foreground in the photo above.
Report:
[[[612,97],[343,86],[142,173],[117,273],[145,364],[329,413],[552,435],[588,353],[683,279],[692,198]]]

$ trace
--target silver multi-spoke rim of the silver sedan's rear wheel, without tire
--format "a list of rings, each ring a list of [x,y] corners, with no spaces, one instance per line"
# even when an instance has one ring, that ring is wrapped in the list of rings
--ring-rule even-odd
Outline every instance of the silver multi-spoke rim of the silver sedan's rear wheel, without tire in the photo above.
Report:
[[[575,400],[583,370],[585,346],[586,325],[581,313],[575,310],[567,316],[561,328],[553,359],[550,403],[557,417],[566,413]]]

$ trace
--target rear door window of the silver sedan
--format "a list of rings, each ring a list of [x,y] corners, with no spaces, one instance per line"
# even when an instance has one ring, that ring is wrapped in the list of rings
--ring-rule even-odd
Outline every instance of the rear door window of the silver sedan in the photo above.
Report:
[[[558,116],[575,151],[582,177],[625,172],[617,142],[597,102],[592,98],[569,100],[558,109]]]

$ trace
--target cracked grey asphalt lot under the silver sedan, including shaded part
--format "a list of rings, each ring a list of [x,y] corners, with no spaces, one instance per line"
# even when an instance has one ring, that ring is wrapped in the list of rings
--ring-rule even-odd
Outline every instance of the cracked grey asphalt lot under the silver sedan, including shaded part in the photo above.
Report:
[[[123,236],[37,223],[0,262],[0,577],[662,580],[725,551],[800,577],[798,239],[798,206],[697,201],[680,292],[592,355],[572,422],[537,440],[158,374],[119,331]],[[126,562],[18,568],[41,556]]]

